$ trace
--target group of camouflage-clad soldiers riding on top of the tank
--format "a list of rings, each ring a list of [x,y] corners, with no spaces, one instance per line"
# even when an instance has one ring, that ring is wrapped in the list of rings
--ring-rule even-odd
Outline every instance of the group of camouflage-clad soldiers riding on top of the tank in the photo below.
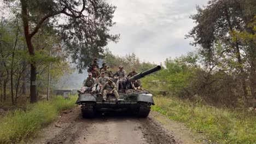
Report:
[[[97,92],[99,95],[103,95],[103,101],[106,101],[107,94],[114,94],[117,101],[120,101],[121,99],[118,94],[119,85],[121,85],[121,82],[124,82],[127,77],[136,75],[136,69],[133,68],[127,75],[123,66],[120,65],[119,70],[113,74],[106,63],[103,63],[101,68],[98,65],[97,58],[94,58],[94,61],[89,63],[88,78],[84,80],[83,87],[78,93],[90,92],[93,94]],[[140,80],[131,82],[129,86],[134,90],[143,89]],[[121,88],[123,88],[123,85],[121,85]]]

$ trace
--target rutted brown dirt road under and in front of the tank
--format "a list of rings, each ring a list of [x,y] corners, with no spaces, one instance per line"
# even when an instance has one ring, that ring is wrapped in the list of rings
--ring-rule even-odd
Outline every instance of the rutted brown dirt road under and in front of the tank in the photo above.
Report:
[[[84,119],[73,109],[62,115],[61,127],[51,124],[27,143],[195,143],[187,129],[169,121],[156,112],[148,118],[115,113]]]

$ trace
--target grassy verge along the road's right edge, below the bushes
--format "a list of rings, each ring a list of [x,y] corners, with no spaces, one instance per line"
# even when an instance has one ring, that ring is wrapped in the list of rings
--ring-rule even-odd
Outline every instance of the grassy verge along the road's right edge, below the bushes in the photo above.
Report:
[[[178,98],[154,97],[154,101],[153,110],[203,133],[203,143],[256,143],[255,112],[193,104]]]

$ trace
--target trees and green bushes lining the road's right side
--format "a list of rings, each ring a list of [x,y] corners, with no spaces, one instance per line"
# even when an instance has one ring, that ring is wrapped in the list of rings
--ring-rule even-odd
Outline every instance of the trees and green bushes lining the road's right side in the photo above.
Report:
[[[167,58],[166,69],[144,80],[179,97],[256,107],[256,1],[213,0],[190,17],[186,35],[197,50]]]

